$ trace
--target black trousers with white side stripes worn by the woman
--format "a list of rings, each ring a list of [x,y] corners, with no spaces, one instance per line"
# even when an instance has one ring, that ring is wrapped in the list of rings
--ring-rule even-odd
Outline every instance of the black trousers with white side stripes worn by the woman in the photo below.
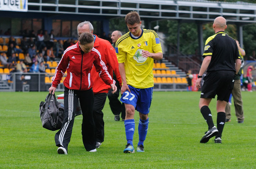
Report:
[[[75,112],[80,100],[82,110],[82,141],[86,151],[95,149],[96,135],[95,123],[92,115],[94,105],[94,95],[92,89],[87,91],[64,89],[64,121],[62,128],[55,134],[55,143],[58,147],[64,147],[68,151],[72,128],[74,124]]]

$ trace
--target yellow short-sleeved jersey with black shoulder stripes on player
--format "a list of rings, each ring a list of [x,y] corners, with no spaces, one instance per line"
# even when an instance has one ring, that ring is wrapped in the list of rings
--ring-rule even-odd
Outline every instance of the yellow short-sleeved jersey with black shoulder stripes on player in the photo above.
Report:
[[[135,88],[154,86],[154,59],[142,57],[142,50],[162,53],[159,37],[154,30],[142,29],[138,38],[132,37],[128,32],[118,39],[115,49],[118,63],[124,63],[127,84]]]

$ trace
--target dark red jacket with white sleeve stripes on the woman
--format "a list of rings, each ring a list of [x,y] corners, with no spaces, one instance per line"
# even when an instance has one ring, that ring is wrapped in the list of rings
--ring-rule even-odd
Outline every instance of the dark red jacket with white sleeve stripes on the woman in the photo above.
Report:
[[[82,91],[90,89],[94,85],[91,76],[92,65],[95,66],[105,83],[109,85],[116,83],[108,73],[105,63],[101,60],[100,52],[92,48],[91,52],[84,53],[77,42],[64,51],[63,57],[55,69],[55,75],[52,77],[52,86],[57,87],[65,71],[67,71],[67,76],[63,82],[65,87]]]

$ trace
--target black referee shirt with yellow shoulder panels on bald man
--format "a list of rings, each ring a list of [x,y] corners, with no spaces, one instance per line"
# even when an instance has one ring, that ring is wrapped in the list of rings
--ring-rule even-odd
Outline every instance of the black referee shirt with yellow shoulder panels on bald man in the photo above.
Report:
[[[224,31],[208,37],[204,46],[203,57],[212,56],[207,72],[235,70],[235,60],[241,59],[235,40]]]

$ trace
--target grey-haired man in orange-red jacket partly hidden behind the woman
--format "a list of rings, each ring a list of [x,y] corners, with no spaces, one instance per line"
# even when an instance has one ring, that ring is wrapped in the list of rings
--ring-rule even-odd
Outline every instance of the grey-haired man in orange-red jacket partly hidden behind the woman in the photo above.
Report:
[[[79,36],[84,32],[91,33],[93,35],[94,28],[89,21],[84,21],[78,24],[77,30]],[[97,35],[93,36],[95,37],[94,48],[100,52],[101,60],[106,64],[107,71],[110,73],[111,77],[113,77],[114,71],[120,86],[122,86],[122,79],[119,73],[117,57],[114,48],[107,40],[101,39],[97,37]],[[105,84],[99,75],[100,74],[95,70],[95,66],[93,66],[91,76],[94,81],[92,90],[94,92],[93,115],[96,126],[96,148],[100,147],[101,143],[104,141],[104,121],[102,109],[106,102],[107,93],[110,90],[110,86]]]

